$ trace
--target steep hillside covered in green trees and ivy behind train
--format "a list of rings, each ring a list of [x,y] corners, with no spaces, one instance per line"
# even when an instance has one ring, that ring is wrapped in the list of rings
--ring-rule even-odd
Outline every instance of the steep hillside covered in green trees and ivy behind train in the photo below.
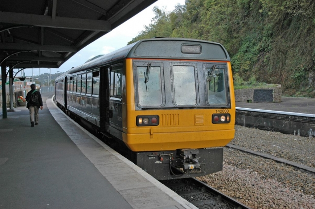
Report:
[[[315,0],[186,0],[172,12],[155,7],[154,13],[130,43],[157,36],[219,42],[234,76],[315,97]]]

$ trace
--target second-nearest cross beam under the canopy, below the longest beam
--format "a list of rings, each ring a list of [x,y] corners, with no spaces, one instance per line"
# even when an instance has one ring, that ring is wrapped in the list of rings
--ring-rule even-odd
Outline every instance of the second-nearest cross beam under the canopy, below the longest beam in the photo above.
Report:
[[[52,52],[78,52],[75,46],[58,46],[58,45],[44,45],[39,44],[19,44],[19,43],[0,43],[0,49],[7,50],[34,50],[34,51],[52,51]]]

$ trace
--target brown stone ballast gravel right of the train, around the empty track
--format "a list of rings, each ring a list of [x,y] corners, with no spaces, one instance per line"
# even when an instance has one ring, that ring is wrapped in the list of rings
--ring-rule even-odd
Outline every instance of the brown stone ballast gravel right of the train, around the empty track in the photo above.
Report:
[[[315,138],[235,126],[230,142],[315,167]],[[224,148],[223,170],[197,178],[253,209],[315,209],[315,174]]]

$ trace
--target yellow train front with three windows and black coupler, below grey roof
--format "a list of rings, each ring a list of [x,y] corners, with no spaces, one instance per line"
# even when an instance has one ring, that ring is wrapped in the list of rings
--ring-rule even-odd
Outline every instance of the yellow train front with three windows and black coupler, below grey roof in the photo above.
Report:
[[[230,62],[127,59],[125,83],[123,141],[139,167],[157,179],[222,170],[235,132]]]

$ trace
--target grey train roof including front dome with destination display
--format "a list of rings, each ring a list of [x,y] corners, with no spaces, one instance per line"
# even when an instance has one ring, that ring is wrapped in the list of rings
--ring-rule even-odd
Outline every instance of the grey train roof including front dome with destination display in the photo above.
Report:
[[[152,38],[137,41],[107,55],[88,60],[70,69],[66,74],[104,66],[126,58],[230,61],[227,51],[220,43],[189,38]]]

